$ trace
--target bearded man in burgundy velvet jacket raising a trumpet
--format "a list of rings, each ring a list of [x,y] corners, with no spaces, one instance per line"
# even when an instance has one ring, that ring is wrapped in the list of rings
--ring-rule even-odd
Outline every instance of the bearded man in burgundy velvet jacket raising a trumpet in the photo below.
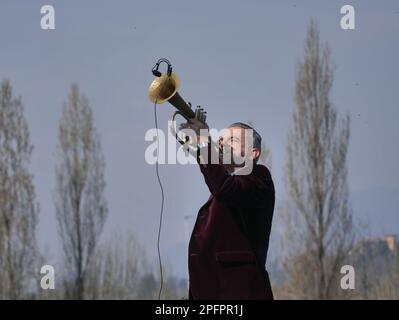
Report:
[[[257,163],[261,136],[233,123],[214,148],[208,129],[196,118],[180,125],[196,144],[192,154],[211,193],[189,243],[189,299],[271,300],[265,264],[275,190],[269,170]]]

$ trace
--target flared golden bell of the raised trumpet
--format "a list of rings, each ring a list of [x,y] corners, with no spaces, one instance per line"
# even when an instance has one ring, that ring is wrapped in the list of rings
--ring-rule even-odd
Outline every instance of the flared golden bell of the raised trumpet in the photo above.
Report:
[[[172,98],[180,86],[180,79],[176,73],[170,76],[163,74],[155,78],[148,89],[148,97],[153,103],[161,104]]]

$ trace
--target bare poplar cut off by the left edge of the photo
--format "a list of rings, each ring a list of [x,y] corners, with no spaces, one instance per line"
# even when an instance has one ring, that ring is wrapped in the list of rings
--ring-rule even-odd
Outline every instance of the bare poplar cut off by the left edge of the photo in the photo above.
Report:
[[[0,298],[27,297],[37,273],[38,206],[28,165],[33,146],[21,98],[0,88]]]

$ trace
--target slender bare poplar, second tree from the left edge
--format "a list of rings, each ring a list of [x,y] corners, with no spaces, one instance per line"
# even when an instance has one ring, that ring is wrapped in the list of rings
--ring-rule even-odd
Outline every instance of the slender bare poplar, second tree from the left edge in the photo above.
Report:
[[[87,270],[108,209],[100,140],[89,102],[77,85],[64,105],[57,152],[56,214],[68,275],[66,297],[84,299]]]

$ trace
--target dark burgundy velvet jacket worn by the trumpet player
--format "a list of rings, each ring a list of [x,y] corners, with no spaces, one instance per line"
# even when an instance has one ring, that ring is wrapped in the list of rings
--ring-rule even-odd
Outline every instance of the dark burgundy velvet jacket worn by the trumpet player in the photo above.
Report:
[[[273,299],[265,269],[275,191],[269,170],[230,175],[200,165],[211,192],[189,244],[190,299]]]

